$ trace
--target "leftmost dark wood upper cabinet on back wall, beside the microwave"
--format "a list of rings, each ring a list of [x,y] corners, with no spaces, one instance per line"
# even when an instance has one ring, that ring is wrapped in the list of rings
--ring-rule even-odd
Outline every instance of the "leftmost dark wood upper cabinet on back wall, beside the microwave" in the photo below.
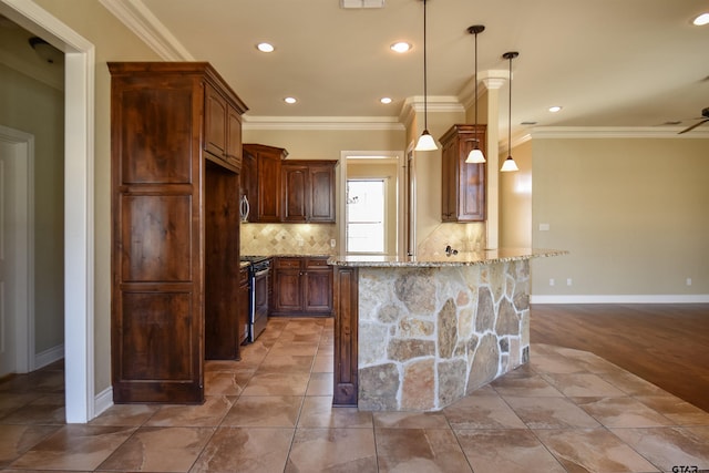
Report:
[[[281,147],[247,143],[243,146],[248,169],[245,191],[250,205],[248,222],[280,222],[280,162],[288,156]]]

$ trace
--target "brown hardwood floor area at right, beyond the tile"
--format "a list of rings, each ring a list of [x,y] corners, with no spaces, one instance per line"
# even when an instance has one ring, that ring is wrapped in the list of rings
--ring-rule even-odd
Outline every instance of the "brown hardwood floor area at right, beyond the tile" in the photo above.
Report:
[[[709,411],[709,305],[533,305],[532,343],[590,351]]]

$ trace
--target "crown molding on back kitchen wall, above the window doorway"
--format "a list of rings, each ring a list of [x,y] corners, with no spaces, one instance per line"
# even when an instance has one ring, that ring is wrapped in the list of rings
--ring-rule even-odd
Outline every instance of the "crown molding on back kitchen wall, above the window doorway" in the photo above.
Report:
[[[244,130],[404,131],[395,116],[243,116]]]

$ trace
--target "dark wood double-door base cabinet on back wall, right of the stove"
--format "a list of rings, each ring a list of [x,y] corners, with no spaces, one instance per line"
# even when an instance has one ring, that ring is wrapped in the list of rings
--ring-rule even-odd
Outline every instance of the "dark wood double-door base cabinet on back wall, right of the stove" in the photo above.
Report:
[[[271,316],[331,316],[332,268],[327,257],[277,257]]]

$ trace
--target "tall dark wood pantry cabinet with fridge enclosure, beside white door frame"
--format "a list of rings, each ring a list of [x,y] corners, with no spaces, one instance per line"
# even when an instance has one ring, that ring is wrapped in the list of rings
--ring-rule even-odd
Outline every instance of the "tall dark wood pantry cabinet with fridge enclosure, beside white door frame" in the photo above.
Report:
[[[205,62],[109,63],[114,402],[199,403],[238,359],[247,107]]]

